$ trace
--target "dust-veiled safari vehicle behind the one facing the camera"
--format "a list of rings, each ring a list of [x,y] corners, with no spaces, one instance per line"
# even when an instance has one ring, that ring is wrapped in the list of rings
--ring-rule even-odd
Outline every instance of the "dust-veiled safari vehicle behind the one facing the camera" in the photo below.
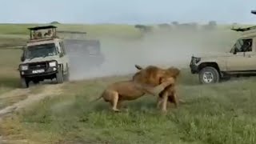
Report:
[[[64,39],[69,54],[72,74],[84,72],[91,67],[101,66],[105,60],[98,39],[89,39],[86,32],[58,30],[58,36]]]

